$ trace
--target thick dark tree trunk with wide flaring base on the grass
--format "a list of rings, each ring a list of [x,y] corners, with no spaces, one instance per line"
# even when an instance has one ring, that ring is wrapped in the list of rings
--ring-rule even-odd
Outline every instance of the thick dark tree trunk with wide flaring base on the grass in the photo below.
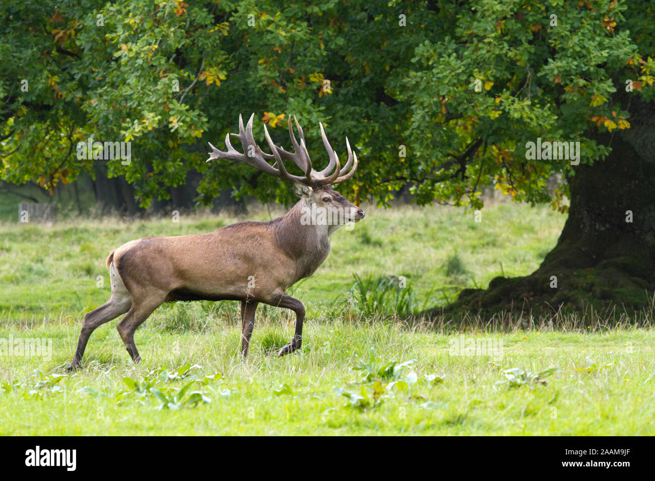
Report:
[[[655,109],[633,101],[631,128],[597,137],[612,152],[570,176],[569,218],[530,276],[464,289],[452,310],[493,313],[645,308],[655,289]]]

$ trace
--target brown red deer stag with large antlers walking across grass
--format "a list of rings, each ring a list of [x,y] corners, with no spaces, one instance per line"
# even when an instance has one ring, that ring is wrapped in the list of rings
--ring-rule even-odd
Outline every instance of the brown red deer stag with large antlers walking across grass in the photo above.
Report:
[[[241,303],[241,354],[248,357],[250,338],[259,304],[295,312],[295,332],[278,356],[301,348],[305,306],[286,293],[300,279],[312,276],[329,254],[330,236],[346,223],[364,219],[364,211],[333,190],[332,186],[352,178],[357,155],[346,137],[348,160],[341,166],[327,140],[323,124],[321,136],[329,161],[321,171],[312,168],[303,130],[295,117],[298,143],[289,116],[293,152],[277,147],[264,124],[271,154],[255,143],[252,124],[244,128],[239,115],[239,133],[225,135],[227,151],[209,143],[207,162],[244,162],[259,171],[288,181],[300,199],[282,217],[265,222],[244,221],[208,234],[146,237],[132,240],[109,253],[106,265],[111,296],[99,308],[84,315],[77,349],[67,370],[81,367],[84,349],[92,332],[100,325],[126,315],[117,324],[122,342],[134,363],[141,357],[134,344],[134,332],[164,302],[193,300],[237,300]],[[234,149],[230,136],[241,143],[244,153]],[[304,175],[287,171],[283,160],[293,162]],[[274,161],[272,164],[271,162]]]

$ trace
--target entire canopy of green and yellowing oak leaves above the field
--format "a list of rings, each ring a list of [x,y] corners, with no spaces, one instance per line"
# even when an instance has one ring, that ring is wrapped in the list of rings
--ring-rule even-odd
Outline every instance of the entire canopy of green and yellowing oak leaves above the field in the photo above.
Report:
[[[655,80],[647,1],[9,0],[4,10],[0,178],[52,191],[95,175],[78,142],[132,141],[132,162],[108,160],[107,172],[125,175],[141,205],[191,170],[205,204],[224,188],[290,202],[272,177],[204,162],[207,142],[221,147],[238,114],[254,112],[255,137],[267,122],[278,145],[297,113],[317,165],[319,121],[337,151],[348,135],[362,162],[343,192],[358,200],[386,204],[411,183],[419,204],[477,208],[479,187],[494,183],[565,210],[567,190],[551,195],[546,179],[573,175],[571,164],[528,160],[525,143],[580,141],[582,163],[600,160],[608,148],[594,134],[630,127],[626,80],[645,101]]]

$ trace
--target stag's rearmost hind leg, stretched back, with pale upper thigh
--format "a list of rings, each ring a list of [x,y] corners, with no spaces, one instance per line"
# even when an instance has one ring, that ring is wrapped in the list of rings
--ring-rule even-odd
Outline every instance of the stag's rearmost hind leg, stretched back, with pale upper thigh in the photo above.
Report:
[[[132,296],[130,296],[130,293],[122,283],[121,277],[116,272],[113,263],[109,266],[109,277],[111,278],[111,296],[105,304],[84,314],[82,330],[77,340],[77,349],[75,349],[75,355],[73,356],[71,365],[67,367],[69,371],[81,366],[84,349],[86,349],[86,343],[91,333],[104,323],[128,312],[130,306],[132,306]]]

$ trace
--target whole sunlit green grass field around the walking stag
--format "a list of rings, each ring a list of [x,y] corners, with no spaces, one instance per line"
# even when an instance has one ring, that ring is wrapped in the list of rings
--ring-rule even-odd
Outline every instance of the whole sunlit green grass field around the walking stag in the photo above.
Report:
[[[71,375],[64,367],[81,318],[109,296],[111,249],[236,219],[0,224],[0,434],[655,433],[650,312],[611,327],[602,315],[512,313],[504,325],[394,315],[444,304],[498,275],[528,274],[555,245],[561,215],[507,204],[485,208],[481,223],[445,207],[367,214],[334,234],[324,265],[293,288],[307,307],[298,353],[274,357],[293,332],[285,310],[258,310],[244,362],[236,303],[170,304],[136,333],[140,365],[112,321],[94,332],[83,369]],[[52,343],[51,355],[18,351],[36,339]]]

